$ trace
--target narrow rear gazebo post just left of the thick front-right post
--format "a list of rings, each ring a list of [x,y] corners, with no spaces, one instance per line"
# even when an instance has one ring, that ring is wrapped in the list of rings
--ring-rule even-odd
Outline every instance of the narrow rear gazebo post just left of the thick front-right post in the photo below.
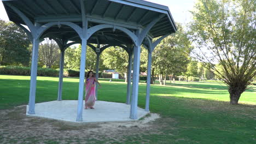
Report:
[[[129,53],[128,73],[127,73],[127,93],[126,93],[126,104],[131,104],[131,68],[132,68],[132,53]]]

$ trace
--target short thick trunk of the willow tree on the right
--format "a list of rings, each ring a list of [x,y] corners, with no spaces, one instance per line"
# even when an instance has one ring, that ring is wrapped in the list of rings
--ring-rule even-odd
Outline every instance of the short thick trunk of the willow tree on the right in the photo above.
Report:
[[[242,87],[230,87],[229,88],[229,99],[230,99],[230,104],[232,105],[237,105],[238,100],[241,97],[241,94],[245,92],[245,86]]]

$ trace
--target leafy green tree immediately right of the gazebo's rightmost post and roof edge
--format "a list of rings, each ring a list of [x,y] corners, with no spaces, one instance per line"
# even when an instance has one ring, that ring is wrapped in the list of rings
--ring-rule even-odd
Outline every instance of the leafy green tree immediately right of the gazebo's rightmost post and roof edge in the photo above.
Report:
[[[162,75],[165,76],[166,81],[167,75],[175,77],[186,70],[193,49],[182,25],[179,23],[176,25],[178,31],[162,40],[152,53],[152,68],[159,74],[160,84],[162,84]]]

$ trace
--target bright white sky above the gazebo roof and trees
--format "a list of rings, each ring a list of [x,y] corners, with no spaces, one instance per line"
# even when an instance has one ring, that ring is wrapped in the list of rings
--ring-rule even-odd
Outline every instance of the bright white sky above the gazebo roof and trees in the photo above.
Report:
[[[193,8],[196,0],[147,0],[148,2],[158,3],[169,7],[175,22],[187,23],[191,20],[189,10]],[[0,19],[9,21],[2,1],[0,2]]]

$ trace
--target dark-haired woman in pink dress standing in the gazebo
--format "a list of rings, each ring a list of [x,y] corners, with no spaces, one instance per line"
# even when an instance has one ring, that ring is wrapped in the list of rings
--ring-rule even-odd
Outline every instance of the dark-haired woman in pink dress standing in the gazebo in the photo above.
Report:
[[[101,84],[95,79],[94,73],[92,73],[92,71],[88,71],[85,81],[85,109],[88,109],[88,107],[90,109],[94,109],[94,103],[96,100],[95,83],[98,83],[101,87]]]

